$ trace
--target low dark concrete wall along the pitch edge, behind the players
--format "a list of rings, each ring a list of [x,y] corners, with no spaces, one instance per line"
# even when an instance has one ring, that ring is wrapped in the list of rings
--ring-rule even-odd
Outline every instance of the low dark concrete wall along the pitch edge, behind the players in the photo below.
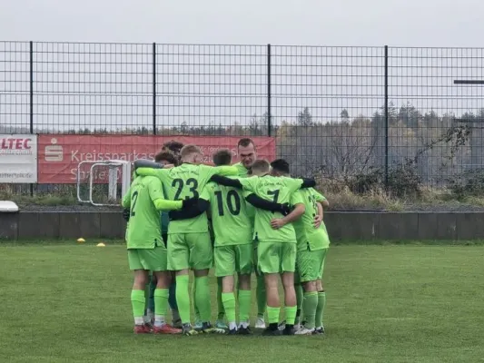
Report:
[[[483,240],[484,212],[328,212],[331,240]],[[119,211],[0,213],[1,240],[123,239]]]

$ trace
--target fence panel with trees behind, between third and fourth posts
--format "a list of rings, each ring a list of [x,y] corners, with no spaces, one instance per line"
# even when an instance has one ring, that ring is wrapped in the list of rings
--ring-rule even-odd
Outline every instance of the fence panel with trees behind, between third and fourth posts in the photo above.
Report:
[[[299,174],[334,178],[383,162],[383,48],[272,47],[278,152]]]

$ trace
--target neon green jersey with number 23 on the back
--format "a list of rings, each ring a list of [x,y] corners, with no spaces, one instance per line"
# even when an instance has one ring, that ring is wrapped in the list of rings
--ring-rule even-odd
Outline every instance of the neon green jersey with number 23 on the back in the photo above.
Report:
[[[163,182],[163,190],[170,201],[183,201],[188,198],[198,198],[203,188],[213,175],[231,176],[237,174],[237,168],[232,166],[207,166],[183,163],[172,169],[138,168],[139,175],[153,175]],[[168,234],[172,233],[203,233],[208,231],[206,213],[189,220],[170,221]]]

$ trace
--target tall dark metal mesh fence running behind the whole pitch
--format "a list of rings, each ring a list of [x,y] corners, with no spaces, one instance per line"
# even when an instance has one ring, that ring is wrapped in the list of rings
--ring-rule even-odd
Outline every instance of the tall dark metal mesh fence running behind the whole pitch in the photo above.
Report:
[[[483,49],[0,42],[0,133],[271,136],[297,174],[484,162]]]

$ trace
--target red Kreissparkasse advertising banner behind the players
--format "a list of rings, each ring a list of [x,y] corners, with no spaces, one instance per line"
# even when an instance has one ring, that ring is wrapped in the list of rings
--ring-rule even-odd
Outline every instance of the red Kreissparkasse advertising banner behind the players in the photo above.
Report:
[[[77,165],[83,161],[153,160],[163,143],[172,140],[198,145],[206,163],[211,163],[212,153],[222,148],[232,150],[234,162],[238,161],[237,142],[240,138],[235,136],[39,135],[38,182],[75,183]],[[260,158],[275,158],[275,139],[252,137],[252,140]]]

